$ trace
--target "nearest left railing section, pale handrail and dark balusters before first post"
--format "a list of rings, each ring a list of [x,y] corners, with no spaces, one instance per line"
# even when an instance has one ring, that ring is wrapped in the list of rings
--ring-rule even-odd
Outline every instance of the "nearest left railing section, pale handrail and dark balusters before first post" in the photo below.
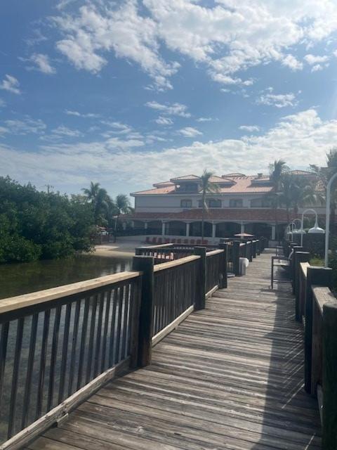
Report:
[[[140,280],[123,272],[1,300],[1,441],[56,420],[85,385],[136,359]]]

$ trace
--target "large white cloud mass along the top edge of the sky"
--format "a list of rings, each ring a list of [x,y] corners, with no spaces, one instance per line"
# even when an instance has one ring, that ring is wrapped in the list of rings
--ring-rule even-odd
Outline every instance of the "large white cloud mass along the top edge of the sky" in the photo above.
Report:
[[[67,4],[62,0],[59,9]],[[221,84],[249,86],[239,70],[279,61],[291,70],[303,63],[289,53],[313,46],[337,30],[334,0],[137,0],[88,2],[54,18],[63,36],[56,46],[78,69],[97,73],[109,53],[140,65],[159,89],[171,88],[178,63],[164,60],[164,46],[206,68]],[[150,86],[153,88],[153,86]]]

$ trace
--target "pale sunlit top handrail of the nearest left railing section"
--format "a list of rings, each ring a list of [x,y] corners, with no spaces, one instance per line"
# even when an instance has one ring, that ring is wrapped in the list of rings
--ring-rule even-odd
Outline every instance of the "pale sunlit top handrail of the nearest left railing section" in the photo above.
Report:
[[[62,297],[69,297],[70,295],[84,293],[88,290],[102,288],[103,286],[126,281],[140,275],[141,272],[139,271],[125,271],[118,274],[101,276],[99,278],[92,278],[91,280],[62,285],[57,288],[39,290],[35,293],[8,297],[0,302],[0,314],[15,311],[21,308],[32,307],[35,304],[51,302],[52,300]]]

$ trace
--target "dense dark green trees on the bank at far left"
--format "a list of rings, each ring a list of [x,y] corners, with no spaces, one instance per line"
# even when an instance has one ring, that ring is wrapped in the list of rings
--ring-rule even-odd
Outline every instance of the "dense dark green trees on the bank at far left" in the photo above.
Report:
[[[91,250],[93,211],[83,198],[40,192],[0,177],[0,262],[60,258]]]

